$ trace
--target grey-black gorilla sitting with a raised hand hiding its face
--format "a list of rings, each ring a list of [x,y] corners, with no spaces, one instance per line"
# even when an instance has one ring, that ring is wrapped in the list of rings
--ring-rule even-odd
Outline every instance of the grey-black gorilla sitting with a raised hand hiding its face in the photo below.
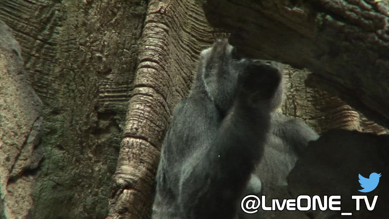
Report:
[[[163,141],[153,219],[233,219],[242,195],[259,192],[252,173],[274,135],[279,68],[237,57],[226,40],[201,53],[195,84]]]

